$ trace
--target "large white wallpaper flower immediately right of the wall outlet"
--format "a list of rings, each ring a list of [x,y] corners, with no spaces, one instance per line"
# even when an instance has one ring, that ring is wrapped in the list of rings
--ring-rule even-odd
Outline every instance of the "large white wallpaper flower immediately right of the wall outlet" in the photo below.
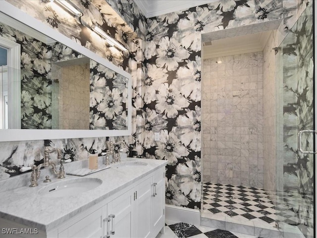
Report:
[[[161,130],[159,137],[158,149],[155,151],[155,155],[159,160],[167,160],[168,165],[175,165],[178,158],[180,159],[189,154],[189,151],[180,142],[174,130],[169,133],[167,130]]]

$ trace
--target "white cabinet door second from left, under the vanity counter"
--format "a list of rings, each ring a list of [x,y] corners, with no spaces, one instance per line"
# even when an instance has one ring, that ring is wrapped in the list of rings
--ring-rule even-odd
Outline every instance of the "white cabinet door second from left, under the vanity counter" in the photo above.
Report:
[[[134,189],[131,189],[107,204],[109,222],[106,234],[110,238],[134,237]]]

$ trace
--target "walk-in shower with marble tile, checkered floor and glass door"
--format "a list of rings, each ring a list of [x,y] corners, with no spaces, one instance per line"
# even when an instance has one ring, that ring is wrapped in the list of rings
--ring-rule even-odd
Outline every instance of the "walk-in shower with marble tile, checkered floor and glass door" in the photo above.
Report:
[[[231,29],[231,39],[203,37],[211,44],[202,63],[201,214],[204,221],[223,222],[222,228],[234,223],[246,233],[267,228],[285,238],[309,238],[314,155],[298,151],[297,134],[314,130],[312,5],[287,34],[280,23],[263,23],[258,35],[255,24],[235,34]],[[300,145],[313,151],[313,134],[304,133]]]

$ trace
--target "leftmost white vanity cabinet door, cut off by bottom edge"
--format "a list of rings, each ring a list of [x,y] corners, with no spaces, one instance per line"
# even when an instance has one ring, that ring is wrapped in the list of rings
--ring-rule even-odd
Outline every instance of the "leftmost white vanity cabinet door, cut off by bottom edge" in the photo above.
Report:
[[[99,209],[58,233],[58,238],[101,238],[102,232],[102,209]]]

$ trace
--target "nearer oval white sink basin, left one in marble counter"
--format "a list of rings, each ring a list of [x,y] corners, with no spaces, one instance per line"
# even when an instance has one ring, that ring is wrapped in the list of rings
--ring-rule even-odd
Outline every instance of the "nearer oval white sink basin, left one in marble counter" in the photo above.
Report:
[[[39,195],[44,197],[65,197],[76,195],[94,189],[102,183],[103,181],[101,179],[96,178],[61,180],[40,189]]]

